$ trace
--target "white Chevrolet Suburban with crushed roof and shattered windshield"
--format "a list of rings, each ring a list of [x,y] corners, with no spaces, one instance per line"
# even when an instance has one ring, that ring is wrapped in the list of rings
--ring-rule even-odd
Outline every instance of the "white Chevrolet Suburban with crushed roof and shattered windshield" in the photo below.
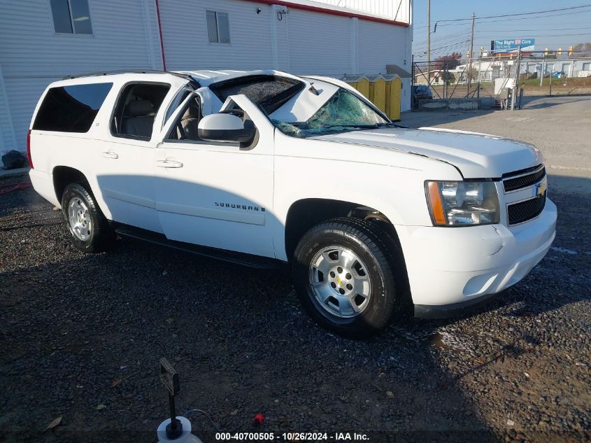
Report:
[[[555,237],[539,150],[396,125],[334,78],[97,73],[50,84],[31,181],[82,251],[115,233],[267,267],[350,337],[440,317],[517,283]]]

